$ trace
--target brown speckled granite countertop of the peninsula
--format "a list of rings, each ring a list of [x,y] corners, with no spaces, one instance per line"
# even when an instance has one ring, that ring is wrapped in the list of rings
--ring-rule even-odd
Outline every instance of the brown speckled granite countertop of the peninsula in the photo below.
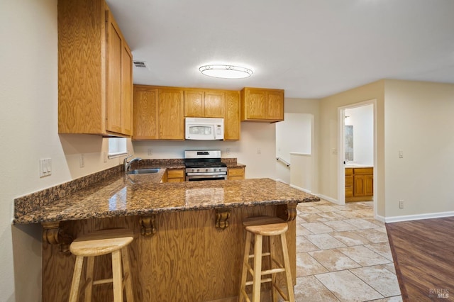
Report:
[[[74,194],[16,215],[13,223],[319,201],[316,196],[272,179],[160,183],[164,172],[165,169],[156,174],[118,172]]]

